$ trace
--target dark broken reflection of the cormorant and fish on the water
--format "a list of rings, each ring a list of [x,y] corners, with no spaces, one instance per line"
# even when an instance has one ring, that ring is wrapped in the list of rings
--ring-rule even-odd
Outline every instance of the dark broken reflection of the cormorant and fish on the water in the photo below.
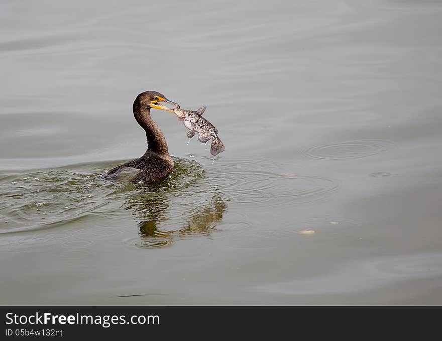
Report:
[[[180,205],[174,203],[174,205]],[[189,203],[181,203],[187,207]],[[131,244],[140,248],[172,245],[176,239],[210,236],[227,209],[225,199],[214,195],[203,204],[173,214],[166,196],[145,196],[131,199],[126,208],[134,209],[139,236]]]

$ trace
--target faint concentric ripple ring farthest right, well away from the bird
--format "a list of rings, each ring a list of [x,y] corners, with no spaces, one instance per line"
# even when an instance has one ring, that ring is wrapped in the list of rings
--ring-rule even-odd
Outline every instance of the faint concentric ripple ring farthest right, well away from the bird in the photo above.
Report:
[[[379,154],[393,146],[394,143],[387,140],[355,140],[313,146],[303,150],[303,153],[315,159],[358,159]]]

